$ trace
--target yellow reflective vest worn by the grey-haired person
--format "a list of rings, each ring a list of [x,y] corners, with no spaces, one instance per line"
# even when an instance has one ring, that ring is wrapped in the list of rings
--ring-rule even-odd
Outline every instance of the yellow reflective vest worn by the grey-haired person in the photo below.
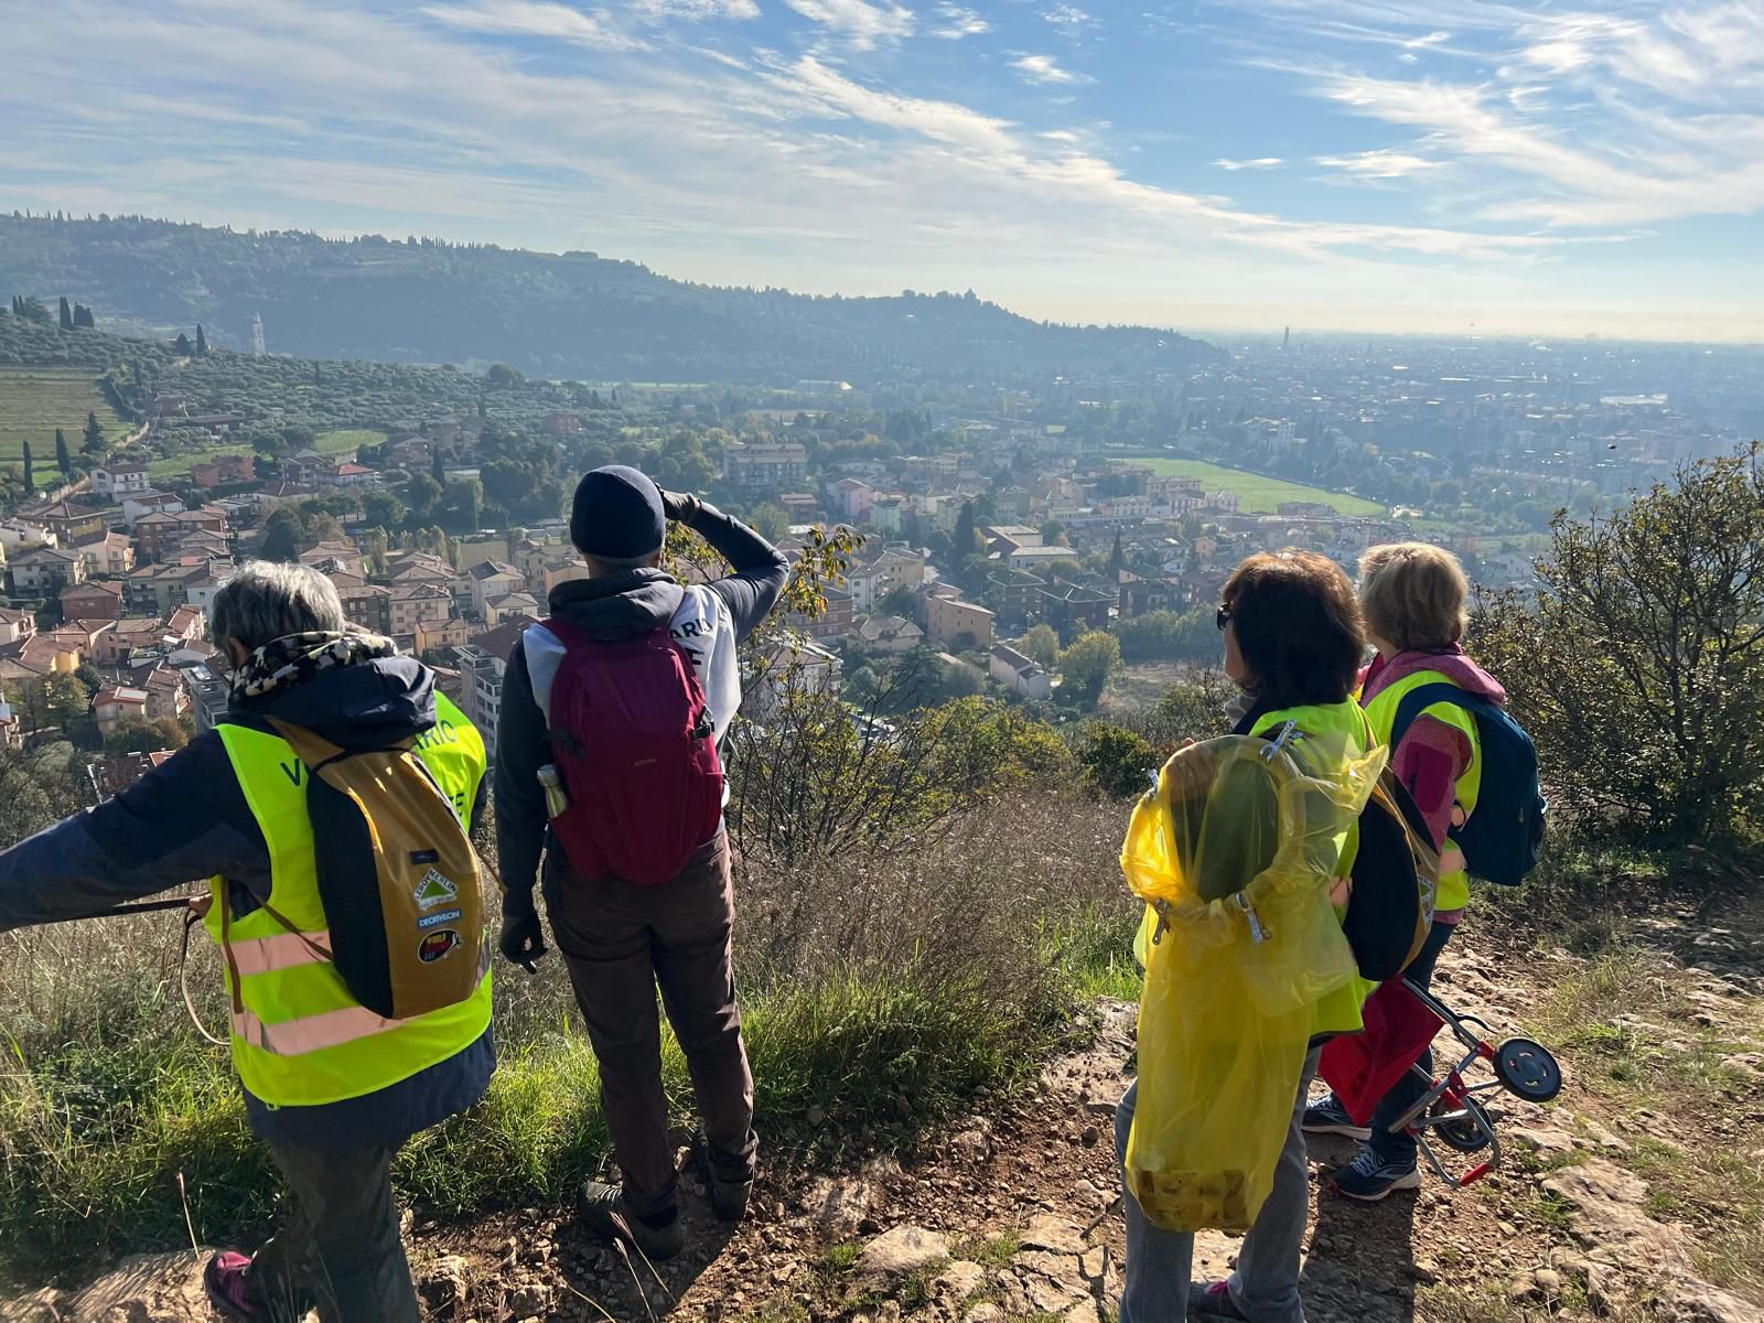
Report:
[[[418,736],[413,751],[469,831],[485,773],[483,737],[448,699],[436,695],[436,707],[434,729]],[[233,1065],[245,1088],[270,1106],[340,1102],[476,1043],[490,1025],[490,946],[478,990],[464,1002],[409,1020],[385,1020],[358,1004],[325,958],[330,931],[307,820],[309,769],[279,736],[243,725],[215,730],[270,850],[268,905],[233,916],[228,884],[215,877],[205,919],[226,947]]]

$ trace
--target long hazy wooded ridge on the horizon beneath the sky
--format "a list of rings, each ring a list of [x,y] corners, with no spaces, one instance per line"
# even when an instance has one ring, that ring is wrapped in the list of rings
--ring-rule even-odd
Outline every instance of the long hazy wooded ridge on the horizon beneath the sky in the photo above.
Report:
[[[64,291],[109,323],[273,353],[501,360],[598,381],[1030,377],[1175,370],[1221,356],[1175,332],[1051,326],[968,295],[813,298],[684,284],[593,252],[349,242],[132,217],[0,217],[0,289]]]

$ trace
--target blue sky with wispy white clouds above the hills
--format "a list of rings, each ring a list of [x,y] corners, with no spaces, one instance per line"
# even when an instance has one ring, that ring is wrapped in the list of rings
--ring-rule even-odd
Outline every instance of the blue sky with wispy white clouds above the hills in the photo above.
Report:
[[[1764,340],[1764,0],[0,0],[0,206]]]

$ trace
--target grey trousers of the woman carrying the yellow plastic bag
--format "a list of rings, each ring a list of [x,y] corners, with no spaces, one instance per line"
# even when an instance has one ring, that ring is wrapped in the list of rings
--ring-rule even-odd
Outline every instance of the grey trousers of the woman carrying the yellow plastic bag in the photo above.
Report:
[[[1305,1057],[1286,1147],[1281,1148],[1279,1164],[1274,1168],[1274,1189],[1256,1214],[1256,1224],[1244,1237],[1237,1272],[1231,1274],[1231,1302],[1251,1323],[1305,1319],[1305,1307],[1298,1300],[1298,1252],[1305,1238],[1305,1215],[1311,1210],[1311,1171],[1305,1136],[1298,1124],[1305,1115],[1311,1078],[1318,1073],[1318,1055],[1319,1051],[1312,1051]],[[1138,1094],[1136,1080],[1115,1108],[1115,1159],[1122,1168],[1122,1191],[1127,1191],[1127,1134],[1132,1131]],[[1125,1192],[1122,1205],[1127,1217],[1127,1267],[1118,1323],[1182,1323],[1189,1312],[1194,1235],[1166,1231],[1148,1222],[1131,1191]]]

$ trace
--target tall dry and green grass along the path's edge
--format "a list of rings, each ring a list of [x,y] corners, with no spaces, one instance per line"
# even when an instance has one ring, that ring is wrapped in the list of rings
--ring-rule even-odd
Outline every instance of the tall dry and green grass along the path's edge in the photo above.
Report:
[[[930,848],[748,871],[737,972],[767,1140],[804,1155],[910,1145],[1037,1071],[1131,937],[1118,818],[1044,794],[970,813]],[[0,1279],[183,1240],[180,1171],[198,1237],[261,1230],[275,1177],[226,1053],[185,1018],[176,947],[169,916],[0,937]],[[191,954],[198,1007],[219,1028],[217,961],[201,935]],[[432,1212],[556,1200],[607,1155],[559,960],[496,979],[489,1099],[400,1161],[400,1187]],[[672,1039],[663,1073],[684,1106]],[[796,1125],[810,1106],[824,1124]]]

